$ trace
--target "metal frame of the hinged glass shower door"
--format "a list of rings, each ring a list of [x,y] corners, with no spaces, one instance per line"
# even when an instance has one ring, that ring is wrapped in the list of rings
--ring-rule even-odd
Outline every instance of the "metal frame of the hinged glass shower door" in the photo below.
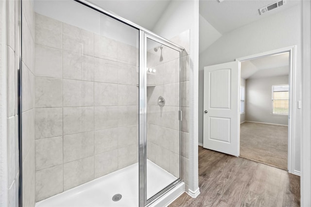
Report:
[[[151,39],[168,48],[179,52],[179,178],[166,188],[147,199],[147,39]],[[164,38],[158,38],[149,32],[139,31],[139,207],[152,205],[152,203],[173,187],[182,182],[182,155],[181,155],[181,57],[184,48],[171,44]],[[143,127],[141,127],[143,126]]]

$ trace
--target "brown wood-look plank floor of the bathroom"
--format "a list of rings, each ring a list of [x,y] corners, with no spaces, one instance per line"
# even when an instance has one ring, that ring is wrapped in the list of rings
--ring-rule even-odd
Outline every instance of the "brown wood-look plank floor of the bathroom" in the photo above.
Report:
[[[199,147],[200,195],[183,193],[170,207],[299,207],[300,177]]]

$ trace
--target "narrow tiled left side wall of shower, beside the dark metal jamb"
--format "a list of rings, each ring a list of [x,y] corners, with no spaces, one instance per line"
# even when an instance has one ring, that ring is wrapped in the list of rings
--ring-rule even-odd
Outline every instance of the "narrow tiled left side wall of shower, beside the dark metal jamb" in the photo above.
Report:
[[[22,1],[22,199],[35,206],[35,13]]]

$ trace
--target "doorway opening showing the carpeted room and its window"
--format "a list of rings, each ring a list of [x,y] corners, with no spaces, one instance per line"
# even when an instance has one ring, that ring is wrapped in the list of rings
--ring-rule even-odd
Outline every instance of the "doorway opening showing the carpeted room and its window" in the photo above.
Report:
[[[287,170],[289,52],[241,63],[240,156]]]

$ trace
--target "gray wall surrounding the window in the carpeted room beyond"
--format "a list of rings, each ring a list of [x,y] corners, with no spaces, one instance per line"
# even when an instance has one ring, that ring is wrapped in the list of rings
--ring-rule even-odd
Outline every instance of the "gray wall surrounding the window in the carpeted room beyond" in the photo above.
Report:
[[[246,121],[288,125],[288,116],[272,115],[272,85],[288,84],[288,76],[246,80]]]

